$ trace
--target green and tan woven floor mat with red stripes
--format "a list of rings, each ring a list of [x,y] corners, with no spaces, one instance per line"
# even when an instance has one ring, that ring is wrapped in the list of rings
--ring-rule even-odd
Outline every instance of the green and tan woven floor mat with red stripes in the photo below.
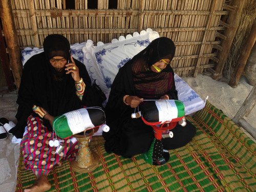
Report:
[[[95,136],[91,148],[100,158],[98,168],[76,173],[65,161],[48,175],[49,191],[256,191],[256,144],[208,101],[193,119],[197,134],[186,146],[170,150],[160,166],[141,155],[124,159],[104,150],[104,139]],[[16,191],[32,185],[32,171],[19,160]]]

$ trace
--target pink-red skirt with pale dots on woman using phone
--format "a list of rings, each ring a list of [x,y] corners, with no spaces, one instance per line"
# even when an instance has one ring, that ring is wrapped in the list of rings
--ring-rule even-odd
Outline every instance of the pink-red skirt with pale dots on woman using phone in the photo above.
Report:
[[[71,142],[71,137],[61,139],[67,146],[60,154],[55,153],[57,147],[49,145],[49,141],[53,139],[53,133],[49,132],[42,123],[40,118],[30,115],[28,117],[28,133],[20,142],[24,167],[33,170],[35,175],[47,175],[61,159],[74,159],[79,147],[78,142]],[[54,138],[56,138],[55,134]]]

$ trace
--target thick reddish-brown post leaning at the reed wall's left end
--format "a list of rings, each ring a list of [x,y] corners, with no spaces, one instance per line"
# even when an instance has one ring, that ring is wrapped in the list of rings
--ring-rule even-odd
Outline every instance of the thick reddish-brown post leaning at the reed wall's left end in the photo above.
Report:
[[[10,58],[10,68],[14,77],[16,88],[19,88],[20,79],[22,78],[22,60],[20,58],[19,47],[17,45],[18,39],[14,27],[14,20],[12,17],[10,1],[0,1],[0,14],[2,19],[3,30],[5,34],[6,44]]]

